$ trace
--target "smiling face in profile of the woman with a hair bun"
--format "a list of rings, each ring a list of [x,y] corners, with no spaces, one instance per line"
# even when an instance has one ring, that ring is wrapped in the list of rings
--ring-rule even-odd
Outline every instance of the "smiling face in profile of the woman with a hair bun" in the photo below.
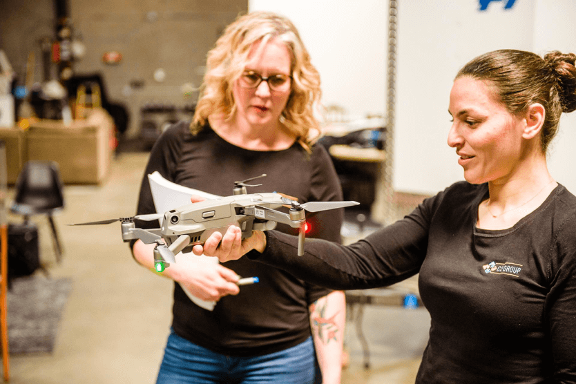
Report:
[[[523,156],[524,119],[496,101],[485,81],[459,77],[450,92],[452,127],[448,145],[456,148],[464,178],[472,184],[505,181]]]

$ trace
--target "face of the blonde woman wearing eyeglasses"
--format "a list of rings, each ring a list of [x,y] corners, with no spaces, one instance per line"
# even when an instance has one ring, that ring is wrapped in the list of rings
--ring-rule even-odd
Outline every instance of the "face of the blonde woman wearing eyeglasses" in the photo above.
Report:
[[[251,47],[244,71],[251,71],[261,77],[289,77],[291,58],[285,44],[278,39],[271,39],[265,46],[260,45],[260,42],[256,42]],[[267,81],[262,81],[256,88],[245,88],[240,85],[240,81],[236,80],[233,85],[238,122],[248,123],[252,128],[278,124],[280,114],[288,102],[291,87],[286,90],[271,90]]]

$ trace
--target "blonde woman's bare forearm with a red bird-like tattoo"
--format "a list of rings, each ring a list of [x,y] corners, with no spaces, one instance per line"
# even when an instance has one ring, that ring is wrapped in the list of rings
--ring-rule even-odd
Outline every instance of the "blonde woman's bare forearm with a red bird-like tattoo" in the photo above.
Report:
[[[310,305],[310,326],[323,384],[340,383],[345,322],[343,291],[333,291]]]

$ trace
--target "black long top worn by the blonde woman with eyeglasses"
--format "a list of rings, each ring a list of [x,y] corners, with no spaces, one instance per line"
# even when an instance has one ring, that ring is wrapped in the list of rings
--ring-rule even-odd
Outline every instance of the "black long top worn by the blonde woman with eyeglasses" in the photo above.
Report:
[[[314,146],[311,154],[299,144],[283,151],[251,151],[226,142],[209,126],[194,136],[188,122],[171,126],[152,148],[137,214],[155,212],[147,177],[153,171],[177,184],[222,196],[232,195],[234,182],[266,173],[248,183],[262,184],[247,187],[248,193],[276,191],[301,203],[342,200],[336,171],[323,147]],[[307,221],[312,228],[307,237],[340,242],[343,210],[307,213]],[[137,222],[137,226],[157,227],[157,222]],[[276,228],[298,233],[286,224]],[[247,259],[223,265],[242,277],[257,276],[260,282],[240,287],[237,296],[223,297],[213,311],[192,303],[175,283],[172,325],[176,334],[231,356],[278,352],[311,335],[308,307],[331,290]]]

